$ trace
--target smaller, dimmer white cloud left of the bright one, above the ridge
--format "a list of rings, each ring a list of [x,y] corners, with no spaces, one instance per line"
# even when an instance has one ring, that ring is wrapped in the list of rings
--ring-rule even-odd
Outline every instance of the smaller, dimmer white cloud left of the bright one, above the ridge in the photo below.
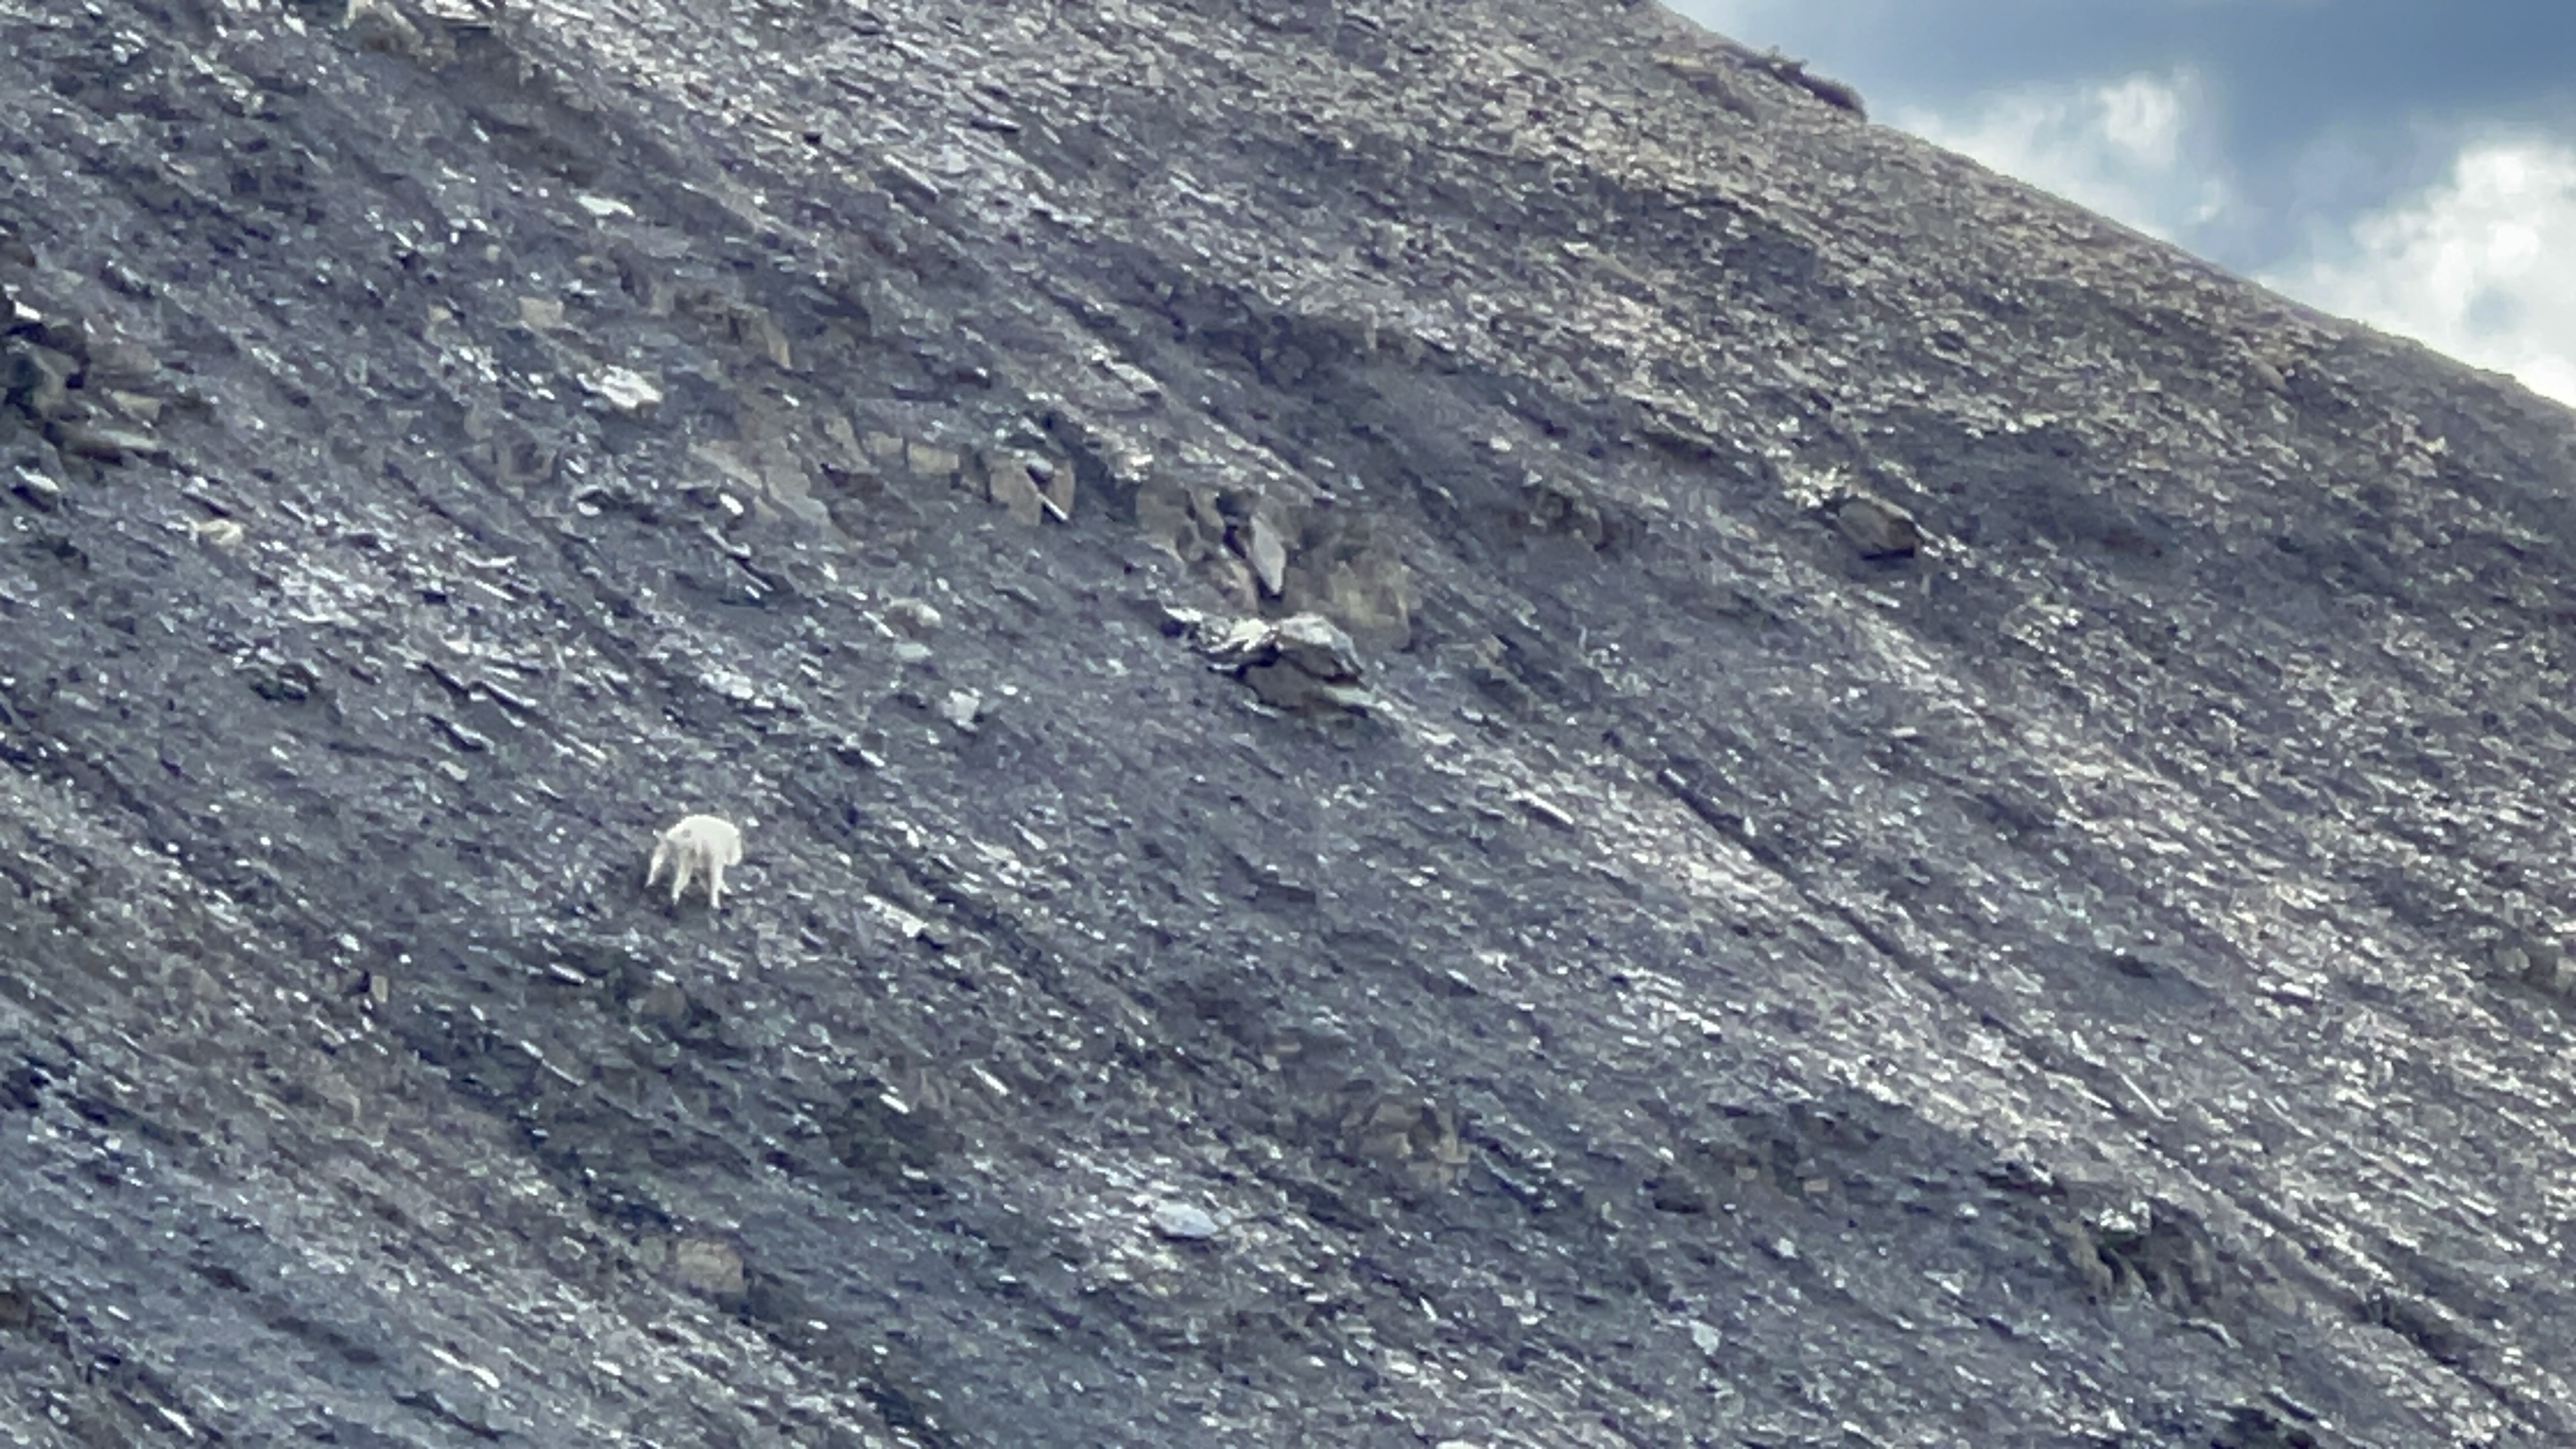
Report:
[[[1965,113],[1917,108],[1893,121],[2154,237],[2187,240],[2231,204],[2192,70],[2020,85],[1973,101]]]

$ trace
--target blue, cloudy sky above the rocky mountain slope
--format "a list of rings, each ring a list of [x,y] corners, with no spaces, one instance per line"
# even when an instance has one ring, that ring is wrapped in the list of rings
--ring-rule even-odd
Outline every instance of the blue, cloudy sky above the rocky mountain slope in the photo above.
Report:
[[[1965,152],[2576,405],[2576,0],[1667,0]]]

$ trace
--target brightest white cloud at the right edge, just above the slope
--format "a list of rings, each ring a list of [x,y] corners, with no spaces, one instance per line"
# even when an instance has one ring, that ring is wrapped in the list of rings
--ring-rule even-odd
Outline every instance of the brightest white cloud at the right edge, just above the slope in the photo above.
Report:
[[[2326,312],[2509,371],[2576,405],[2576,150],[2465,144],[2450,175],[2372,211],[2264,281]]]

